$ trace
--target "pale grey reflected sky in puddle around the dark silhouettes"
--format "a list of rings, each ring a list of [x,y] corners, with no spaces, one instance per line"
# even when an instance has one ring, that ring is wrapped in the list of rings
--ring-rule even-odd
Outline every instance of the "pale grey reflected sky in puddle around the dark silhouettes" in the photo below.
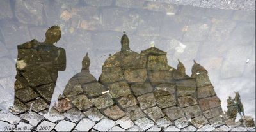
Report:
[[[168,65],[184,64],[191,75],[193,60],[209,73],[222,109],[239,92],[244,114],[255,119],[255,12],[177,6],[152,1],[1,1],[0,108],[13,105],[17,45],[45,40],[45,31],[61,27],[57,47],[66,51],[65,71],[58,71],[52,101],[68,80],[81,71],[88,52],[90,74],[97,80],[102,65],[121,49],[123,31],[132,51],[150,45],[167,52]],[[4,5],[4,6],[3,6]],[[52,104],[51,104],[52,106]]]

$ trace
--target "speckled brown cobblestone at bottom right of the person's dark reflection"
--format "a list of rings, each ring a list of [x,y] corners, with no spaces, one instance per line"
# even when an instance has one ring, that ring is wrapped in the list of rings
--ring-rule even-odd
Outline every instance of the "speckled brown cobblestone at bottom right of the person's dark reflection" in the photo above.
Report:
[[[31,108],[31,105],[32,105],[32,110],[34,110],[35,112],[39,112],[41,110],[45,110],[46,108],[49,108],[49,105],[47,105],[47,103],[45,103],[45,101],[41,98],[28,102],[25,105],[28,106],[28,108]]]

